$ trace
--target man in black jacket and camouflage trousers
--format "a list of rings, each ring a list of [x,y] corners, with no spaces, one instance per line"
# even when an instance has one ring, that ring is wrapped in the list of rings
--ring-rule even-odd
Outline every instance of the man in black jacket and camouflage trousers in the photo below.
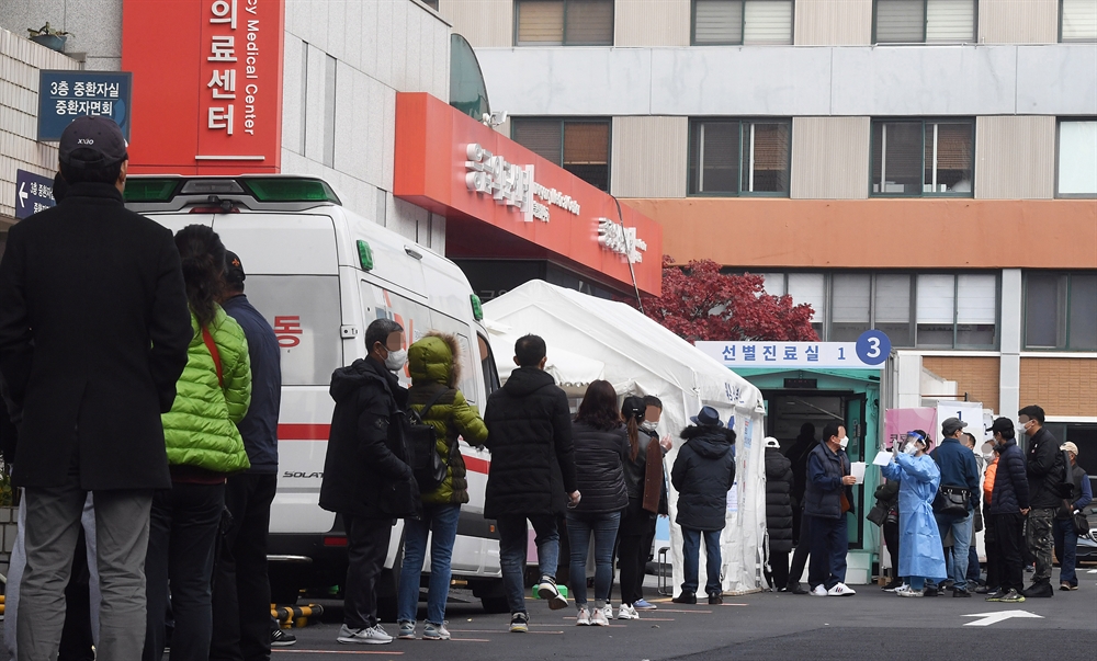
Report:
[[[1032,585],[1021,594],[1027,599],[1055,595],[1051,586],[1051,550],[1054,544],[1052,526],[1055,513],[1063,504],[1059,485],[1066,480],[1066,458],[1059,440],[1043,426],[1043,409],[1025,407],[1017,412],[1017,422],[1028,436],[1029,447],[1026,468],[1032,510],[1028,512],[1025,543],[1036,557]]]

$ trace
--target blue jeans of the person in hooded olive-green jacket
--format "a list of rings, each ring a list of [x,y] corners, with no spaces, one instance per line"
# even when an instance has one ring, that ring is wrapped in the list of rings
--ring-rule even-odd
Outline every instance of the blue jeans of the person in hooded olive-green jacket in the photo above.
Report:
[[[419,606],[419,579],[427,556],[430,533],[430,588],[427,595],[427,622],[445,622],[445,600],[450,595],[450,559],[457,537],[461,505],[423,505],[421,518],[404,521],[404,566],[397,592],[397,622],[415,622]]]

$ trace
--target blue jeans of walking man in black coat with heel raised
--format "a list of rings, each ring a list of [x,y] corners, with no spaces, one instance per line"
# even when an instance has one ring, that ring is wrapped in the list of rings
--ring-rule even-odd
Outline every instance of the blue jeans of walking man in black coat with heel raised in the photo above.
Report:
[[[496,518],[499,526],[499,567],[502,569],[502,588],[511,613],[525,613],[525,547],[529,542],[522,514],[506,514]],[[552,514],[536,514],[529,517],[538,536],[538,565],[541,575],[556,578],[559,561],[559,534],[556,517]]]

